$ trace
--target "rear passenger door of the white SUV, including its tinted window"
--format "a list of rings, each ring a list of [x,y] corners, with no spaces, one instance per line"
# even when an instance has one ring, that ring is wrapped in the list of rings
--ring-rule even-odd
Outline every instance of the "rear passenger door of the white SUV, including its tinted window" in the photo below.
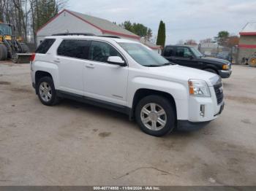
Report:
[[[83,68],[88,57],[89,41],[64,39],[54,62],[59,66],[59,89],[83,95]]]

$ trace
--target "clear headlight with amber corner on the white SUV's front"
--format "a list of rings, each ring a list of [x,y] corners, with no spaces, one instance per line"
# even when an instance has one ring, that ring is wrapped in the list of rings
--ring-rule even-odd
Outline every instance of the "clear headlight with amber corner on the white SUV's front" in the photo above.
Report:
[[[206,81],[200,79],[189,79],[189,94],[198,97],[211,97]]]

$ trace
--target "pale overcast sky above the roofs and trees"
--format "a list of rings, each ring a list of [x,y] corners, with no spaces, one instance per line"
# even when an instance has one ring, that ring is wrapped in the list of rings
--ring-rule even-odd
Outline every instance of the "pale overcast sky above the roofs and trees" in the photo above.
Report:
[[[112,22],[142,23],[157,36],[165,22],[166,43],[213,38],[219,31],[239,34],[248,22],[256,21],[256,0],[69,0],[66,7]]]

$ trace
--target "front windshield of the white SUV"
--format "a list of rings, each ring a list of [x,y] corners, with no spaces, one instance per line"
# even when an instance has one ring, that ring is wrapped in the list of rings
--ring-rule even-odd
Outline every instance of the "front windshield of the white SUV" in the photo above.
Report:
[[[144,47],[142,44],[137,43],[118,43],[127,53],[142,66],[164,66],[169,63],[165,58],[157,52]]]

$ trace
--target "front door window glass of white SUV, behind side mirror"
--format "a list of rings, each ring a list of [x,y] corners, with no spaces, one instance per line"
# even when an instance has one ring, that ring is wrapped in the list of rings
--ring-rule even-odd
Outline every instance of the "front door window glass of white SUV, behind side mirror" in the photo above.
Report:
[[[110,44],[105,42],[92,41],[89,50],[89,60],[107,62],[108,57],[119,56],[122,58],[121,54]],[[124,60],[124,58],[122,58]]]

